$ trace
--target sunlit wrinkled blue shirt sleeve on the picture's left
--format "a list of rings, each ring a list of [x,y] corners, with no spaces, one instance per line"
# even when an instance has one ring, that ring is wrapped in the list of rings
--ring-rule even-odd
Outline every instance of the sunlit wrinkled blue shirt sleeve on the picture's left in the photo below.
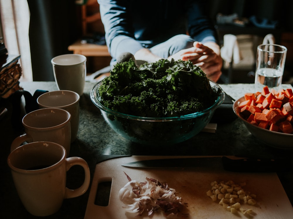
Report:
[[[105,39],[110,55],[117,59],[123,52],[134,55],[144,48],[134,39],[131,18],[127,15],[129,1],[98,0],[101,19],[105,28]]]

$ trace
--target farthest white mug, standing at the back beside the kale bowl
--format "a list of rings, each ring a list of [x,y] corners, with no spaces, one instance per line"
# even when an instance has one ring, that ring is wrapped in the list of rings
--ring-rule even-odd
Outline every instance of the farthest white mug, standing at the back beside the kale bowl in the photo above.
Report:
[[[86,79],[86,57],[79,54],[58,55],[51,60],[57,87],[59,90],[69,90],[84,93]]]

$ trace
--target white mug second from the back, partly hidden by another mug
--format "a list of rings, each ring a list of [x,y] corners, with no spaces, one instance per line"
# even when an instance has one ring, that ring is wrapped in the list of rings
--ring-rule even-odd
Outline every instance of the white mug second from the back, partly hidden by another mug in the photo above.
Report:
[[[71,114],[71,142],[76,139],[79,127],[79,99],[74,91],[50,91],[40,95],[37,99],[40,108],[65,109]]]

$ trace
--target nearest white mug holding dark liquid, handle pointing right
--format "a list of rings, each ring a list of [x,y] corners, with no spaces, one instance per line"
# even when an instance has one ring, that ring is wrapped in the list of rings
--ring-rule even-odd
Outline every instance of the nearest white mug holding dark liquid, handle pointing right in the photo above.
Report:
[[[35,216],[56,213],[63,200],[84,194],[90,171],[80,157],[66,158],[66,150],[53,142],[32,142],[12,151],[7,159],[18,195],[26,210]],[[74,165],[84,168],[81,187],[66,187],[66,172]]]

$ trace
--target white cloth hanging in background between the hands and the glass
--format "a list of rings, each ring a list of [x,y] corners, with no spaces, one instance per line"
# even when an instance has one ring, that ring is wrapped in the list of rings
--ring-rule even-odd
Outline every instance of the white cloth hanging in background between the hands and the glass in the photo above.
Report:
[[[237,37],[233,34],[224,35],[224,45],[221,48],[221,57],[227,64],[234,62],[239,63],[242,59]],[[233,59],[233,60],[232,60]]]

